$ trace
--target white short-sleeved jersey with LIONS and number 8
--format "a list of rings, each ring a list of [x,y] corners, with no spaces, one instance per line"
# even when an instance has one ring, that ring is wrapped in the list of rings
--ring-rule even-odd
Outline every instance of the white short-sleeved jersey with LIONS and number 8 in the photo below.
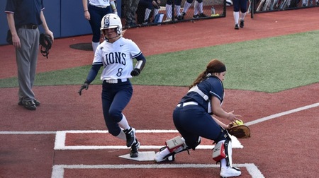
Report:
[[[141,54],[140,48],[132,40],[124,37],[113,43],[105,40],[96,49],[93,65],[103,64],[101,81],[132,78],[130,71],[133,70],[133,59]]]

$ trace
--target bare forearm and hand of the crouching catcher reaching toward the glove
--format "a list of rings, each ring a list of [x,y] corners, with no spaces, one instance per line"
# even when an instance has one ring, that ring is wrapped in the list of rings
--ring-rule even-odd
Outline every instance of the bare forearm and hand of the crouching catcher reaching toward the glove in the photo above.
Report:
[[[216,96],[211,97],[211,107],[213,114],[220,118],[225,118],[230,121],[236,121],[238,119],[237,117],[240,117],[240,115],[233,114],[234,111],[225,112],[224,109],[220,106],[220,100]]]

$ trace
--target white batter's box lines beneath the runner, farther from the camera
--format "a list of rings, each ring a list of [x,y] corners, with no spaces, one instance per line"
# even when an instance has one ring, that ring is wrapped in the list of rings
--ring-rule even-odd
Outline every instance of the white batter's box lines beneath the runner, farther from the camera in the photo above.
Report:
[[[67,133],[108,133],[108,131],[57,131],[55,133],[55,150],[101,150],[128,149],[126,146],[65,146]],[[138,130],[136,133],[178,133],[177,130]],[[233,148],[244,148],[235,136],[231,136]],[[140,146],[140,149],[159,149],[162,146]],[[199,145],[196,149],[213,149],[213,145]]]

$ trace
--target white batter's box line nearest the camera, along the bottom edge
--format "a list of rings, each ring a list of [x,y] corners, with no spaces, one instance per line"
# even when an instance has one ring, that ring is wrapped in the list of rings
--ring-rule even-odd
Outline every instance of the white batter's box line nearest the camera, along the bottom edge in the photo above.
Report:
[[[252,178],[264,178],[264,175],[253,163],[233,164],[235,167],[245,167]],[[172,169],[172,168],[218,168],[220,165],[210,164],[160,164],[160,165],[54,165],[51,178],[63,178],[65,170],[80,169]]]

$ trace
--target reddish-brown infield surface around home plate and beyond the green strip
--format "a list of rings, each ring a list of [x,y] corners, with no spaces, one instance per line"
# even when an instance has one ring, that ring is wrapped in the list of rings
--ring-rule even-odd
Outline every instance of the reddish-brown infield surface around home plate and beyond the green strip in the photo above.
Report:
[[[147,57],[319,30],[318,11],[319,8],[306,8],[259,13],[253,19],[247,16],[244,29],[234,30],[233,13],[228,8],[226,18],[135,28],[127,30],[125,37],[134,40]],[[55,40],[49,59],[40,57],[38,72],[91,64],[92,52],[69,48],[69,45],[90,40],[90,35]],[[0,51],[0,78],[16,76],[13,48],[1,46]],[[218,167],[161,168],[155,167],[157,164],[153,162],[118,158],[128,153],[128,149],[55,150],[56,131],[106,130],[101,112],[101,86],[90,86],[81,97],[78,89],[78,85],[35,87],[41,101],[35,112],[17,105],[18,88],[0,89],[0,177],[51,177],[52,167],[56,165],[74,165],[75,168],[65,168],[64,177],[127,177],[128,174],[134,177],[218,177]],[[125,115],[138,130],[174,129],[172,110],[186,91],[183,87],[134,85],[133,98]],[[246,123],[264,119],[250,126],[252,138],[240,140],[244,148],[233,150],[233,162],[242,168],[241,177],[252,177],[250,164],[264,177],[318,177],[315,158],[319,158],[316,151],[319,148],[319,110],[318,106],[311,106],[319,102],[318,95],[314,95],[319,93],[319,83],[273,94],[242,90],[225,90],[225,93],[223,107],[226,111],[234,109],[242,114]],[[142,133],[138,136],[144,146],[154,144],[152,140],[156,138],[162,143],[167,139],[165,134],[155,138]],[[84,134],[76,141],[71,135],[68,139],[71,145],[83,142],[108,145],[104,140],[108,137],[103,134],[91,139]],[[210,157],[211,150],[195,150],[191,155],[179,155],[168,165],[214,165]],[[77,168],[75,165],[92,167]],[[94,167],[96,165],[101,167]],[[136,168],[128,169],[125,165]],[[143,167],[145,165],[150,168]]]

